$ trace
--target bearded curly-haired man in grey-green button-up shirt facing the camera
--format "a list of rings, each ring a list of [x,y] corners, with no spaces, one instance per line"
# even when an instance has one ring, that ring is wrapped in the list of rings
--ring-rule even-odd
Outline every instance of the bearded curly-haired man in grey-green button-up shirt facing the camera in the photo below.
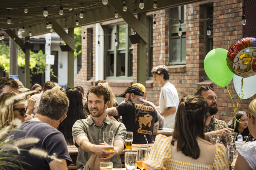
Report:
[[[121,167],[120,156],[124,149],[126,128],[124,124],[110,120],[106,114],[110,92],[103,85],[91,87],[86,95],[90,116],[78,120],[72,128],[73,140],[78,147],[78,170],[99,169],[100,162],[113,162],[113,168]],[[113,148],[104,144],[103,132],[114,132]]]

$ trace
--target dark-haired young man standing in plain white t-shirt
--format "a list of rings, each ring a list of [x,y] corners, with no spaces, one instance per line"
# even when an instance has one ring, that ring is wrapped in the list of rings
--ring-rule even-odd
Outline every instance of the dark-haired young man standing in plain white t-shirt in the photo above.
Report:
[[[160,114],[164,117],[164,128],[174,128],[176,111],[179,105],[178,92],[169,80],[167,66],[156,66],[152,69],[153,79],[162,88],[159,98]]]

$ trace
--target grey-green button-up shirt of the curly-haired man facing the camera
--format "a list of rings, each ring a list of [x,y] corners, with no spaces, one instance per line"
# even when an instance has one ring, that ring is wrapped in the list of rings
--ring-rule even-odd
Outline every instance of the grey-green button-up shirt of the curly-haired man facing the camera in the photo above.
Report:
[[[114,132],[114,140],[125,141],[126,128],[124,124],[111,120],[108,116],[103,121],[103,126],[100,128],[93,122],[91,115],[87,119],[81,119],[75,122],[72,128],[72,135],[75,146],[78,147],[78,156],[76,160],[77,168],[83,168],[92,153],[87,153],[82,150],[77,144],[76,139],[79,136],[85,135],[92,144],[100,145],[103,143],[103,131],[112,130]],[[113,162],[113,168],[122,167],[120,156],[114,156],[110,159]]]

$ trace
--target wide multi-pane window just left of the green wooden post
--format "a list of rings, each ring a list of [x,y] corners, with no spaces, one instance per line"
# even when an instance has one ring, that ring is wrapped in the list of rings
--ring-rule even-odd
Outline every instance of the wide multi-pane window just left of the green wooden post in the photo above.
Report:
[[[115,34],[116,33],[116,34]],[[118,77],[132,78],[132,50],[133,45],[128,38],[132,29],[128,24],[117,24],[105,28],[105,77],[113,79]],[[117,38],[117,46],[114,45]]]

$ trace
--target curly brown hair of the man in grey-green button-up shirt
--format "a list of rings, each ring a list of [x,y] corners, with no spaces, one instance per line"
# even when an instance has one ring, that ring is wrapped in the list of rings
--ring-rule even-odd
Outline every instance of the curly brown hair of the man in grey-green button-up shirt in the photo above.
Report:
[[[90,87],[90,89],[88,90],[87,94],[86,94],[86,98],[88,100],[88,95],[89,93],[93,93],[95,94],[97,97],[103,96],[104,98],[104,104],[107,103],[107,101],[110,100],[110,92],[109,90],[107,90],[107,87],[103,86],[103,85],[98,85],[98,86],[92,86]]]

